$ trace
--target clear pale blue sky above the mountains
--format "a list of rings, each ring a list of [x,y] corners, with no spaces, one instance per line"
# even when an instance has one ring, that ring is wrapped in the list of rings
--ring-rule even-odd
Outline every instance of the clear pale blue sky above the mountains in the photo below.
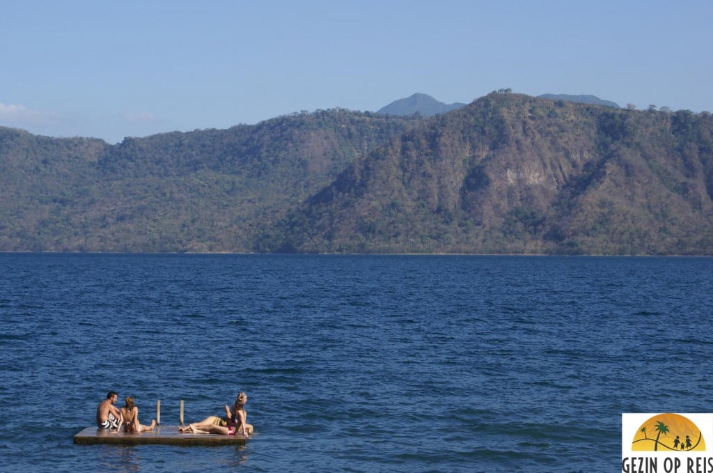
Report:
[[[713,1],[6,2],[0,126],[109,143],[498,88],[713,111]]]

